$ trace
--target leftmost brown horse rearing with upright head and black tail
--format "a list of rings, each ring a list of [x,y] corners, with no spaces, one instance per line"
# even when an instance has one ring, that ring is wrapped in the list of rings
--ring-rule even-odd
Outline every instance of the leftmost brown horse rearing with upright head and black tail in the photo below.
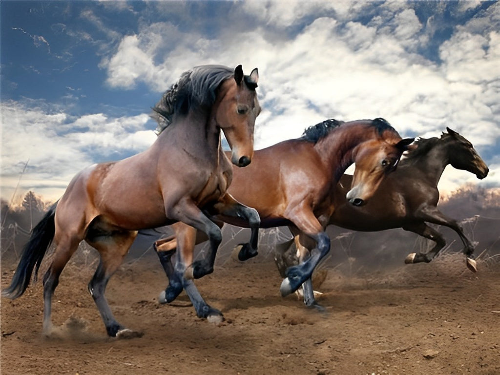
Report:
[[[254,209],[228,193],[230,162],[222,151],[220,130],[231,148],[230,160],[246,166],[253,157],[253,128],[259,114],[258,71],[244,75],[220,65],[184,72],[152,108],[159,134],[145,151],[94,164],[70,181],[64,194],[33,228],[9,287],[2,294],[19,297],[34,277],[53,240],[55,250],[43,277],[43,332],[51,332],[51,300],[65,264],[85,240],[100,254],[88,284],[109,336],[134,336],[114,318],[104,297],[106,284],[120,265],[137,231],[182,221],[206,233],[211,251],[221,241],[220,228],[199,207],[237,214],[258,227]],[[213,263],[206,262],[207,269]]]

